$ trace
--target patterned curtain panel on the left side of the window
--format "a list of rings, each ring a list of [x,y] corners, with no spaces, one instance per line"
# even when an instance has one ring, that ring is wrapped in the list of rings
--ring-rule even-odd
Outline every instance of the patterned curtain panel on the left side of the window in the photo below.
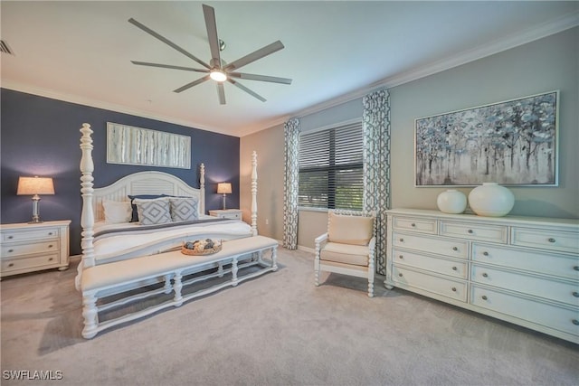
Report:
[[[298,249],[299,119],[284,125],[283,246]]]

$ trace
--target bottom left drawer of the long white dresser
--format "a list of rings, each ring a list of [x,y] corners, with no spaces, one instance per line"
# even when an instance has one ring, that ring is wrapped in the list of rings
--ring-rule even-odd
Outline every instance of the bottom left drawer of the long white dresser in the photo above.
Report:
[[[461,281],[439,278],[411,269],[395,266],[392,269],[392,279],[399,287],[415,287],[443,297],[451,297],[461,302],[467,301],[467,285]]]

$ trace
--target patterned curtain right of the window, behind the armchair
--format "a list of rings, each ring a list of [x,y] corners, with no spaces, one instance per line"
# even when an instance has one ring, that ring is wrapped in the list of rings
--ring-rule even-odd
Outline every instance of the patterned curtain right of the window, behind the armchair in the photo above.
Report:
[[[386,274],[386,214],[390,209],[390,95],[380,89],[362,99],[364,212],[376,213],[376,272]]]

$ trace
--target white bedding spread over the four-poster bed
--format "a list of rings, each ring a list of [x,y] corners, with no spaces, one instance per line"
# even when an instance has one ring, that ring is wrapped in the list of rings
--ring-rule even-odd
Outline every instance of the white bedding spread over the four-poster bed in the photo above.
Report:
[[[212,219],[211,216],[201,216],[200,220]],[[97,264],[129,259],[138,255],[142,250],[143,255],[158,253],[163,250],[179,248],[184,241],[193,241],[205,238],[217,240],[232,240],[252,236],[252,227],[243,221],[225,220],[204,222],[194,225],[171,227],[167,230],[138,231],[142,225],[136,222],[121,224],[108,224],[104,221],[95,223],[95,235],[93,241],[95,260]],[[101,236],[101,231],[127,230],[122,233],[107,233]],[[130,231],[137,231],[131,233]],[[153,248],[153,249],[151,249]]]

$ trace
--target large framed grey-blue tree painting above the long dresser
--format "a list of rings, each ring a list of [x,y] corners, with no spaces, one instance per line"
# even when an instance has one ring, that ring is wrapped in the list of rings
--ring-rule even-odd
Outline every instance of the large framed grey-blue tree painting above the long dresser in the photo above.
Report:
[[[415,186],[558,184],[559,91],[415,120]]]

